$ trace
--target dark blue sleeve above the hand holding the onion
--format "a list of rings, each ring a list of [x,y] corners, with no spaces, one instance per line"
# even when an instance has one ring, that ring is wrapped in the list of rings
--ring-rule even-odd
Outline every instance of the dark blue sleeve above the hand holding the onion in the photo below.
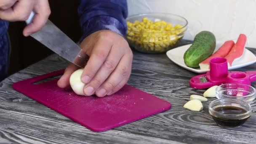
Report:
[[[126,35],[126,0],[80,0],[78,13],[83,31],[81,40],[99,30],[111,30],[119,35]]]

